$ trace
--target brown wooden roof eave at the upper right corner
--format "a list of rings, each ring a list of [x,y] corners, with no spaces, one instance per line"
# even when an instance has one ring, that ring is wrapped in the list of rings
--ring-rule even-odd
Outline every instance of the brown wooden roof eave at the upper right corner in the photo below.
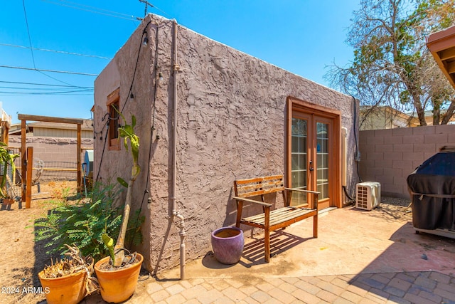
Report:
[[[455,26],[432,33],[427,37],[427,47],[442,73],[455,88]]]

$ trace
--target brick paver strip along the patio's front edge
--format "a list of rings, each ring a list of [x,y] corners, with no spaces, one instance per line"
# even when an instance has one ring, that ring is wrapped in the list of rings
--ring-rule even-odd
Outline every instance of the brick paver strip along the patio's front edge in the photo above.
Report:
[[[126,303],[444,303],[455,304],[455,276],[437,271],[345,276],[256,278],[254,282],[203,278],[141,281]],[[105,303],[90,295],[83,304]]]

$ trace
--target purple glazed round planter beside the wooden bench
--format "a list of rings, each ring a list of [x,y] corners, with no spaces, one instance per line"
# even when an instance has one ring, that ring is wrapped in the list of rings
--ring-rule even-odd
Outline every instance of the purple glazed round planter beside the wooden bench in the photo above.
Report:
[[[240,228],[223,227],[212,232],[213,254],[220,263],[235,264],[240,261],[244,244]]]

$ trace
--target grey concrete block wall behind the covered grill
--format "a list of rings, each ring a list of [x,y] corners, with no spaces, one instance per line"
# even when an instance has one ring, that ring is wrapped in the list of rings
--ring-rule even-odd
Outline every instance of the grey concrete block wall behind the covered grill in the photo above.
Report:
[[[455,125],[360,131],[360,179],[380,182],[382,195],[408,198],[407,176],[445,145],[455,146]]]

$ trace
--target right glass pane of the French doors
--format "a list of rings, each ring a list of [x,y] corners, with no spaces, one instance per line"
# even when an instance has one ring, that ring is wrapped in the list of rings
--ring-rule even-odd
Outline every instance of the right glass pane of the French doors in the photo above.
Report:
[[[328,198],[328,125],[316,122],[316,186],[319,199]]]

